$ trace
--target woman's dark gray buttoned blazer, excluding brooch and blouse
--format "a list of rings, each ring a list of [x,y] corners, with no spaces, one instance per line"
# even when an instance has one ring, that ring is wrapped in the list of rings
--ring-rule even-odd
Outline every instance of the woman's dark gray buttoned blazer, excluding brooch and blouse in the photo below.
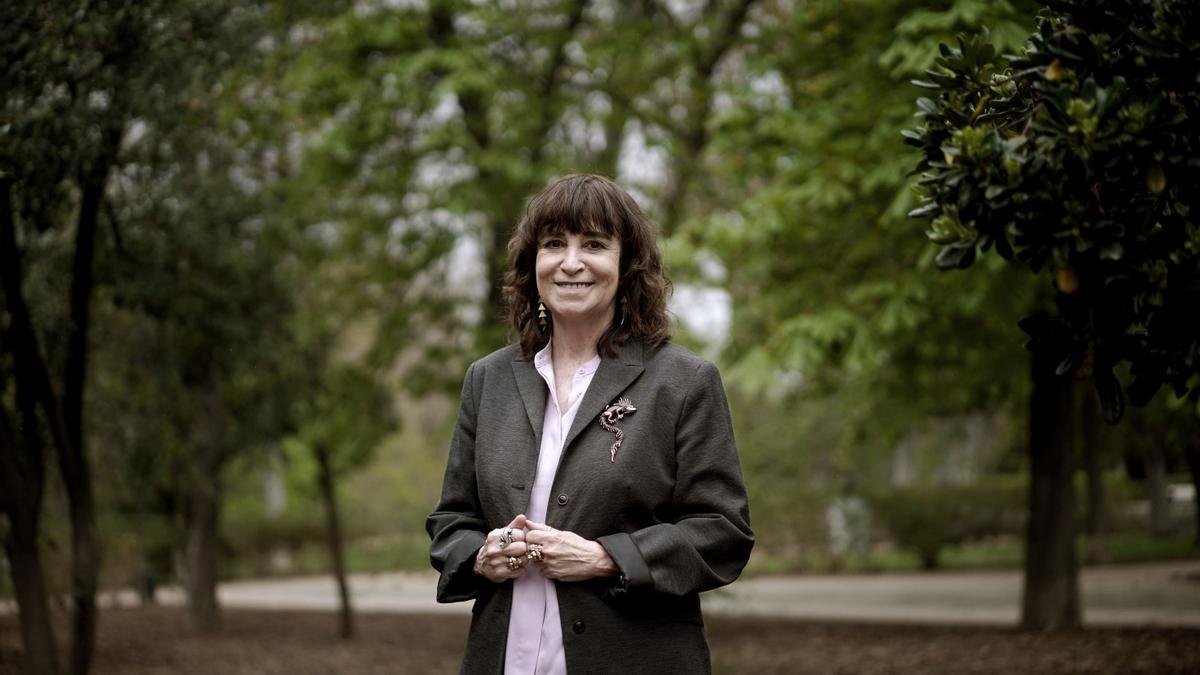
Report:
[[[473,572],[491,530],[529,503],[548,388],[516,346],[474,363],[462,389],[442,498],[426,520],[438,602],[474,599],[462,671],[503,673],[512,584]],[[598,420],[618,398],[637,412]],[[557,583],[566,669],[708,673],[700,592],[737,579],[754,533],[716,368],[665,345],[604,358],[566,436],[546,520],[596,539],[622,578]]]

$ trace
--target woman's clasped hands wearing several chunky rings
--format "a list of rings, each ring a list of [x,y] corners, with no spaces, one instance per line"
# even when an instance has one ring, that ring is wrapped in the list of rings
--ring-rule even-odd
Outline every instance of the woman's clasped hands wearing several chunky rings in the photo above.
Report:
[[[509,528],[511,540],[505,540]],[[516,579],[530,567],[546,579],[558,581],[583,581],[595,577],[616,577],[618,573],[608,551],[599,543],[575,532],[534,522],[524,514],[514,518],[505,527],[488,532],[475,554],[475,574],[496,584]]]

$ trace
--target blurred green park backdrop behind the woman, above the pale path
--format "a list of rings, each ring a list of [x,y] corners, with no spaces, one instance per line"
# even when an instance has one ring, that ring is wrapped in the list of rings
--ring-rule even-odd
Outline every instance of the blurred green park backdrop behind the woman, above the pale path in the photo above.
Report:
[[[676,341],[721,368],[748,575],[1019,569],[1016,322],[1052,275],[936,269],[900,132],[940,42],[1016,52],[1037,10],[7,2],[5,611],[30,551],[52,617],[94,563],[202,628],[217,581],[426,571],[508,235],[576,172],[652,217]],[[1080,562],[1195,558],[1194,404],[1081,405]]]

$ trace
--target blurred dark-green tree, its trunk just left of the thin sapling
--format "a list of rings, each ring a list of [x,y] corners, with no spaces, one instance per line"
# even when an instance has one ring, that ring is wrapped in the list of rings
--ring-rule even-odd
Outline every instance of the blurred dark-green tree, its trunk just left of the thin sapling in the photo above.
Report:
[[[174,424],[175,442],[162,450],[182,455],[173,460],[185,476],[188,616],[214,631],[222,473],[233,456],[288,430],[294,264],[288,234],[260,216],[266,192],[247,190],[253,165],[240,159],[216,106],[197,106],[178,132],[152,130],[144,139],[130,149],[143,171],[126,174],[124,187],[139,198],[119,204],[126,227],[124,255],[109,268],[112,293],[121,312],[152,327],[142,348],[156,366],[139,387],[174,394],[156,407]],[[143,394],[126,395],[134,402]]]

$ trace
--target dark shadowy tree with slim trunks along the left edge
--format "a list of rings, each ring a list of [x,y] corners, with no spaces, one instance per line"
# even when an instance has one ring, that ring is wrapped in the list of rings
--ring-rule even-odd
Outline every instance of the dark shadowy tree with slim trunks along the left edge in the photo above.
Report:
[[[0,181],[6,313],[12,321],[12,336],[4,347],[20,364],[16,399],[25,425],[24,470],[40,478],[31,468],[40,454],[31,443],[44,424],[66,486],[72,528],[72,673],[90,668],[96,629],[100,550],[85,448],[84,390],[97,231],[104,220],[109,178],[120,163],[127,126],[169,114],[187,90],[181,84],[209,72],[210,30],[222,18],[216,7],[199,4],[102,1],[79,7],[50,1],[4,8]],[[116,227],[110,219],[108,225]],[[31,298],[47,305],[30,309]],[[65,312],[59,309],[64,305]],[[34,401],[37,413],[30,407]],[[5,506],[23,509],[36,501],[30,495]],[[13,518],[29,521],[37,515]],[[36,558],[30,550],[23,555]],[[31,649],[35,662],[53,670],[53,662],[36,651]]]

